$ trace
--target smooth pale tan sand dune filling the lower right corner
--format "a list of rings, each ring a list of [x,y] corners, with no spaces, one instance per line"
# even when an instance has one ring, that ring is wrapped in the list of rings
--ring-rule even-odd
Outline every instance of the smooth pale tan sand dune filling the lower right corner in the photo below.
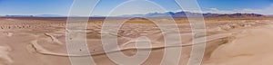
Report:
[[[233,42],[219,47],[211,55],[217,65],[270,65],[272,60],[272,27],[263,26],[243,32]],[[249,63],[249,61],[251,63]]]

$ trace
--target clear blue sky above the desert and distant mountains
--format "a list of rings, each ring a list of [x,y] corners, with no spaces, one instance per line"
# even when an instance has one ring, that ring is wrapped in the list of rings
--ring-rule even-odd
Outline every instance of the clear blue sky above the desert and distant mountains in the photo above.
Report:
[[[86,0],[87,1],[87,0]],[[117,5],[124,4],[129,0],[101,0],[96,5],[92,15],[107,15]],[[174,0],[148,0],[164,7],[167,11],[181,11]],[[256,14],[273,14],[273,0],[197,0],[203,13],[233,14],[233,13],[256,13]],[[0,0],[0,15],[37,15],[37,14],[69,14],[70,6],[73,0]],[[147,14],[163,13],[153,9],[154,6],[141,4],[125,4],[121,8],[121,14]],[[131,7],[130,7],[131,6]],[[133,7],[132,7],[133,6]],[[134,11],[142,7],[142,11]],[[121,6],[123,7],[123,6]],[[130,8],[126,8],[130,7]],[[81,16],[80,14],[77,16]]]

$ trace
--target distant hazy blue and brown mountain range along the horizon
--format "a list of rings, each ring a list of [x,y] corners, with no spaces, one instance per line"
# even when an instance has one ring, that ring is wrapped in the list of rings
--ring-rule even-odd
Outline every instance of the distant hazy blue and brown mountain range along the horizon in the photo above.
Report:
[[[124,14],[116,17],[166,17],[166,16],[172,16],[172,17],[187,17],[187,14],[189,15],[199,15],[200,13],[191,13],[191,12],[167,12],[167,13],[149,13],[149,14]],[[263,14],[213,14],[213,13],[207,13],[203,14],[204,17],[220,17],[220,18],[248,18],[248,17],[266,17],[266,16],[272,16],[272,15],[263,15]],[[5,17],[66,17],[64,15],[58,15],[58,14],[38,14],[38,15],[5,15]],[[75,16],[75,17],[81,17],[81,16]],[[91,16],[91,17],[106,17],[106,16]],[[111,16],[112,17],[112,16]],[[115,17],[115,16],[114,16]]]

